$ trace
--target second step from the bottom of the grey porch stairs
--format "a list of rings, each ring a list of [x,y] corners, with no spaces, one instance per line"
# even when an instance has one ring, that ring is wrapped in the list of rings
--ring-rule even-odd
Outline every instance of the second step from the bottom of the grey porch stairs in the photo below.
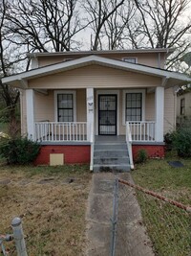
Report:
[[[126,157],[95,157],[94,164],[99,165],[123,165],[129,164],[129,158]]]

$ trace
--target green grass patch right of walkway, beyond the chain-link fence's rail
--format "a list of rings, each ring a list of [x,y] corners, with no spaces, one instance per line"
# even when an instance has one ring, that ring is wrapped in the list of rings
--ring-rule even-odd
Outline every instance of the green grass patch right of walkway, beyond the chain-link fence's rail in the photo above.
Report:
[[[175,168],[168,161],[180,161],[184,167]],[[167,157],[150,159],[145,164],[137,165],[132,172],[135,182],[144,188],[191,204],[191,159]]]

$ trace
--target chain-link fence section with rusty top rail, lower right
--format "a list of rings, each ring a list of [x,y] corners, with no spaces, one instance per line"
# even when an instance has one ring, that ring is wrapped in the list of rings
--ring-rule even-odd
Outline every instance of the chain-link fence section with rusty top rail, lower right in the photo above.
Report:
[[[191,207],[115,182],[111,256],[190,256]]]

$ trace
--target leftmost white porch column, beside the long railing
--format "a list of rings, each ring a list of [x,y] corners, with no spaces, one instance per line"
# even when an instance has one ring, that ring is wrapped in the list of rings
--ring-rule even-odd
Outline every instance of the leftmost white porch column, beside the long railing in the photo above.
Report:
[[[33,118],[33,90],[26,90],[27,105],[27,133],[28,138],[34,140],[34,118]]]

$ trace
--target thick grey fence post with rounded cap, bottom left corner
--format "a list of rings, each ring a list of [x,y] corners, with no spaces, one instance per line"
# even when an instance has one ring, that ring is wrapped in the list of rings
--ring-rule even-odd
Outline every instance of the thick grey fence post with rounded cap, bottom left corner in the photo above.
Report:
[[[11,227],[13,230],[13,237],[14,237],[14,241],[16,244],[17,255],[18,256],[28,256],[21,219],[14,218],[11,221]]]

